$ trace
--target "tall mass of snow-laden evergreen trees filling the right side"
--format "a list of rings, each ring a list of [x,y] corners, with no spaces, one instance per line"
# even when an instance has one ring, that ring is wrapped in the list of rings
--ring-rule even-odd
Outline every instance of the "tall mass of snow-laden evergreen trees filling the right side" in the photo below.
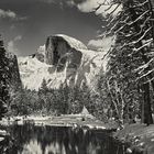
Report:
[[[116,43],[108,53],[108,69],[102,75],[105,81],[101,81],[100,91],[110,103],[112,117],[122,123],[139,114],[143,123],[151,124],[154,91],[152,3],[146,0],[112,0],[110,4],[110,8],[114,4],[117,8],[107,16],[109,23],[105,35],[113,34]],[[120,6],[122,10],[112,16]]]

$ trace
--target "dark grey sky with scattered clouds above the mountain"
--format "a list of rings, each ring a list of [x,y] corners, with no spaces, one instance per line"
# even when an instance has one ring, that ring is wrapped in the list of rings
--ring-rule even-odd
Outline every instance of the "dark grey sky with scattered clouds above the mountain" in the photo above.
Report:
[[[0,0],[0,33],[6,48],[19,56],[31,55],[54,34],[66,34],[99,48],[102,41],[97,35],[105,24],[106,8],[94,9],[102,1]]]

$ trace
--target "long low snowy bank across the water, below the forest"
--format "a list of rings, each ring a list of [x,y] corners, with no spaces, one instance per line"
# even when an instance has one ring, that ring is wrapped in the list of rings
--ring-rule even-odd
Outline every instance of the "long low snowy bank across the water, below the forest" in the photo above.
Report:
[[[2,119],[0,125],[23,124],[24,122],[32,122],[35,125],[52,125],[52,127],[73,127],[73,128],[87,128],[87,129],[109,129],[100,120],[97,120],[90,114],[65,114],[59,117],[11,117]]]

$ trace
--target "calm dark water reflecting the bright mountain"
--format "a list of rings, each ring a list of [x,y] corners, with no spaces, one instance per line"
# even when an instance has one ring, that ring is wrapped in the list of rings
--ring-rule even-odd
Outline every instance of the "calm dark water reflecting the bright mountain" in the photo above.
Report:
[[[30,123],[13,125],[9,131],[11,138],[1,145],[0,154],[123,154],[122,145],[105,131]]]

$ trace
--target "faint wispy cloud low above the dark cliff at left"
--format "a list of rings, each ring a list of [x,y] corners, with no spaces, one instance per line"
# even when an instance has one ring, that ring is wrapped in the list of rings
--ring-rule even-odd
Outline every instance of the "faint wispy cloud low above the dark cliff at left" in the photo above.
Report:
[[[18,41],[21,41],[21,40],[22,40],[22,36],[21,35],[18,35],[13,40],[11,40],[10,42],[8,42],[8,47],[7,47],[8,52],[14,53],[14,54],[18,55],[19,54],[19,50],[18,50],[15,43]]]

